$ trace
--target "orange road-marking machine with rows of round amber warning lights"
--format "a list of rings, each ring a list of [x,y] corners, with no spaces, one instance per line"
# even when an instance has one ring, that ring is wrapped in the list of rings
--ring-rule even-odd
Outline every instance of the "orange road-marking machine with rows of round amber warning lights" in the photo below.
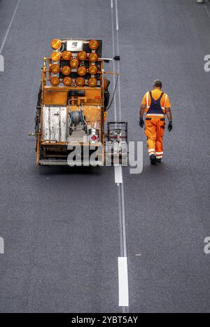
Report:
[[[102,58],[100,40],[53,39],[51,47],[36,106],[36,165],[125,163],[127,123],[104,128],[110,107],[104,62],[120,57]]]

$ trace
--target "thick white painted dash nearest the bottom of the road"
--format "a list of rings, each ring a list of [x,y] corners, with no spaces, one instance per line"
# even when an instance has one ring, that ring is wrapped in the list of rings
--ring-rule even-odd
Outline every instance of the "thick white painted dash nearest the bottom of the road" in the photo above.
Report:
[[[128,307],[127,258],[118,257],[119,307]]]

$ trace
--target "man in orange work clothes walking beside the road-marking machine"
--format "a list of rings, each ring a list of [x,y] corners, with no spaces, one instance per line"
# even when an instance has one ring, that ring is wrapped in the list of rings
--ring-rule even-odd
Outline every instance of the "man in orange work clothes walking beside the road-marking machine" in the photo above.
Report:
[[[163,155],[162,137],[165,132],[165,114],[169,120],[168,130],[172,130],[172,112],[170,99],[162,92],[162,81],[153,82],[153,90],[146,92],[141,102],[139,125],[144,127],[144,113],[146,113],[145,134],[147,137],[148,154],[151,164],[161,162]]]

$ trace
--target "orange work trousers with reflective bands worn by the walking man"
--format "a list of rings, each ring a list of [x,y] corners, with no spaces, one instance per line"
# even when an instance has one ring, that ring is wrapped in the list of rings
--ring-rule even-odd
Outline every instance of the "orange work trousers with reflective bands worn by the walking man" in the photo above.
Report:
[[[165,118],[160,116],[146,117],[145,134],[147,137],[148,154],[162,159],[162,137],[165,132]]]

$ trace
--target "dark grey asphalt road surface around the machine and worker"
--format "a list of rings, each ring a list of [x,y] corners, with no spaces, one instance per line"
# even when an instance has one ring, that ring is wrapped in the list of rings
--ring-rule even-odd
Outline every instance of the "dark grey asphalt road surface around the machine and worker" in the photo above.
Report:
[[[0,312],[209,312],[210,6],[1,0],[0,15]],[[109,120],[144,141],[143,172],[123,168],[123,184],[112,167],[36,167],[28,132],[55,37],[102,39],[104,57],[121,57]],[[151,167],[138,117],[155,78],[172,99],[174,130]],[[120,256],[129,307],[119,306]]]

